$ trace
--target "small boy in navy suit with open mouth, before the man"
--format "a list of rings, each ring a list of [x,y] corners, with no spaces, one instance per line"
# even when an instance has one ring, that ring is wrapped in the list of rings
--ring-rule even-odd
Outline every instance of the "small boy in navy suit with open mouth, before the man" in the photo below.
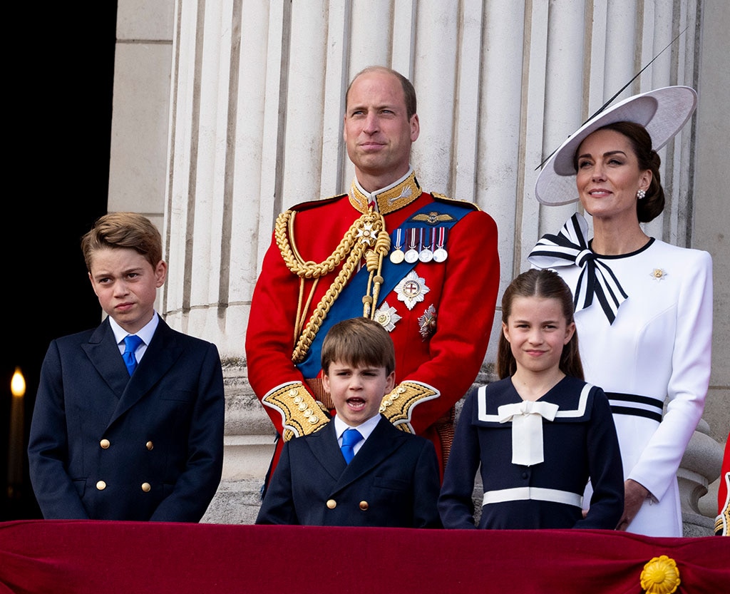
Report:
[[[285,443],[256,523],[440,528],[433,443],[380,414],[396,377],[387,330],[366,318],[338,322],[324,340],[322,370],[333,422]],[[352,429],[359,435],[345,452]]]

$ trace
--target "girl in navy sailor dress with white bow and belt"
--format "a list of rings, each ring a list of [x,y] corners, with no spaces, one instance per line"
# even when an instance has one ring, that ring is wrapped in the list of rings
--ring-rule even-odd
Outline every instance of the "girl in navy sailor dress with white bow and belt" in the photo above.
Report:
[[[445,528],[613,530],[623,468],[610,405],[583,381],[572,293],[552,270],[528,270],[502,298],[497,368],[472,390],[456,426],[439,495]],[[583,491],[593,484],[583,514]]]

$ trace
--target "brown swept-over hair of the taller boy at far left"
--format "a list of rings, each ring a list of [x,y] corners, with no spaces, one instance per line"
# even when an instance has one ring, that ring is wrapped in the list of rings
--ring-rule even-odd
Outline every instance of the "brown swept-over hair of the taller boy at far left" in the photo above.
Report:
[[[102,248],[131,248],[154,268],[162,259],[162,237],[150,219],[137,213],[109,213],[96,219],[81,238],[86,268],[91,272],[93,254]]]

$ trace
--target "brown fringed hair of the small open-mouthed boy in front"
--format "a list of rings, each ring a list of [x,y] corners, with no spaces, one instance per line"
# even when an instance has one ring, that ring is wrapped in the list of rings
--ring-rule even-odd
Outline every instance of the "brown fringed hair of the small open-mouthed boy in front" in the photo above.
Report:
[[[396,350],[391,335],[377,321],[351,318],[334,324],[322,345],[322,370],[329,373],[333,361],[347,365],[384,367],[389,376],[396,368]]]

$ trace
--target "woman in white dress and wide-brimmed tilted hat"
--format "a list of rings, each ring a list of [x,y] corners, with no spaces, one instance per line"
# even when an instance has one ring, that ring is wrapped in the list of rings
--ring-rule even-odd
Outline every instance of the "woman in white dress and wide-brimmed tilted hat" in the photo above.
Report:
[[[576,213],[529,261],[573,291],[585,380],[607,393],[621,446],[617,529],[648,536],[682,536],[677,469],[710,381],[710,254],[642,229],[664,210],[656,151],[695,106],[693,89],[674,86],[604,110],[558,148],[535,188],[542,204],[580,199],[593,217],[591,241]]]

